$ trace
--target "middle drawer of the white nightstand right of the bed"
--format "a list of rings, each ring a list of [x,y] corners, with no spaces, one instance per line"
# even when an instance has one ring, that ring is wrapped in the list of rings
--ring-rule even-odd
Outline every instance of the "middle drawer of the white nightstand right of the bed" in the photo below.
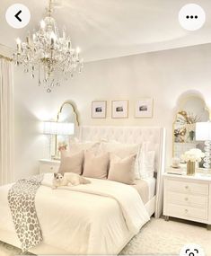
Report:
[[[208,197],[207,196],[196,196],[191,194],[179,193],[179,192],[168,192],[167,203],[174,205],[183,205],[188,207],[200,207],[207,210]]]

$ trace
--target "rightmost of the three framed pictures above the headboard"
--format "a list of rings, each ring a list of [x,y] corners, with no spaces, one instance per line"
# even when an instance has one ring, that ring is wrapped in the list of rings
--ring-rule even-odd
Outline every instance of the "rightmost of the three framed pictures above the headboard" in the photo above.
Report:
[[[154,100],[153,98],[145,98],[136,101],[135,118],[153,118]]]

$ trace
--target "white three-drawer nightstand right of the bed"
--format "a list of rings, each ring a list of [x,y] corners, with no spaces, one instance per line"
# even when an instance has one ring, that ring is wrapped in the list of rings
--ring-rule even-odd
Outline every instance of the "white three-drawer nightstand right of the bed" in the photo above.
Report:
[[[211,175],[163,174],[163,215],[211,225]]]

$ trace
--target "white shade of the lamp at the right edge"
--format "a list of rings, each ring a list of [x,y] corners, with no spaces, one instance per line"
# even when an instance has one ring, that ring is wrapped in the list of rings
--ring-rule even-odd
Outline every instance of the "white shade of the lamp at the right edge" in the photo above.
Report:
[[[196,123],[196,140],[211,140],[211,122]]]

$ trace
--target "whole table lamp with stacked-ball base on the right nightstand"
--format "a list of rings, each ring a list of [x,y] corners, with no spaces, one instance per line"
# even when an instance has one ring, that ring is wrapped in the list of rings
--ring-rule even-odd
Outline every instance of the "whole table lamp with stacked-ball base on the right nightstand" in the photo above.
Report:
[[[203,166],[205,170],[210,168],[211,163],[211,122],[198,122],[196,124],[196,140],[205,141],[205,158]]]

